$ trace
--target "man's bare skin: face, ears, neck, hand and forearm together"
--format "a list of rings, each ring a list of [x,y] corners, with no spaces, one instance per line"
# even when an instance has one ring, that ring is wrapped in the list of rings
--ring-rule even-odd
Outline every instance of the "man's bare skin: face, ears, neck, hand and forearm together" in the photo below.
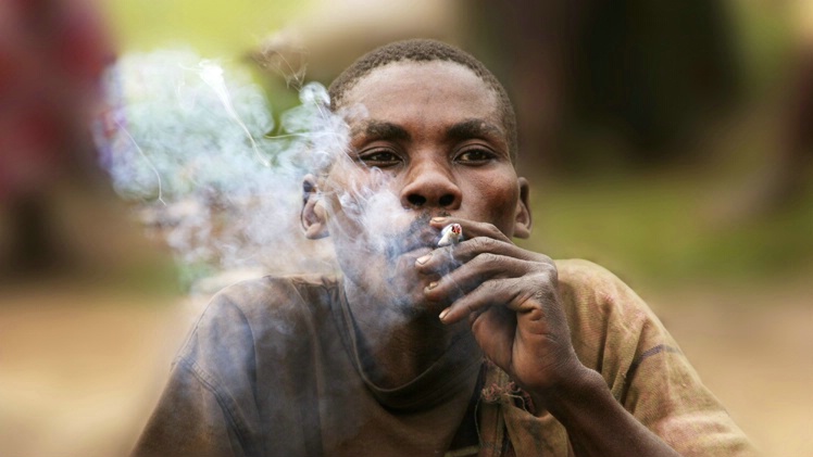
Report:
[[[468,334],[540,412],[565,426],[577,455],[676,456],[576,357],[554,263],[511,241],[530,233],[529,188],[511,162],[496,100],[453,63],[373,71],[345,98],[365,107],[365,116],[348,119],[350,152],[327,174],[305,178],[307,234],[333,237],[361,331],[371,341],[387,335],[373,347],[384,384],[409,382]],[[372,223],[384,239],[409,240],[396,250],[378,249],[382,233],[370,233],[370,219],[351,217],[376,204],[370,194],[400,206],[371,213],[386,221]],[[436,247],[451,223],[465,240]],[[393,307],[405,317],[382,329],[377,317]]]

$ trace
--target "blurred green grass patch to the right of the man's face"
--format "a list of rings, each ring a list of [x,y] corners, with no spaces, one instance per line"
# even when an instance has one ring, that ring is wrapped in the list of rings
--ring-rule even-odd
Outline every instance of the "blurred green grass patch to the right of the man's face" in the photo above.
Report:
[[[647,287],[764,283],[813,267],[813,194],[771,214],[713,211],[714,179],[616,175],[548,183],[534,194],[528,247],[581,257]]]

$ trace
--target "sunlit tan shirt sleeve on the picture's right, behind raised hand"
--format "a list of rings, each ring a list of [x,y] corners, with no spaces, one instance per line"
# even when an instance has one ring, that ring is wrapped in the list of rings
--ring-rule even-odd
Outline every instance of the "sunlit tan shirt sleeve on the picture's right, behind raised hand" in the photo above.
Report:
[[[588,262],[560,266],[579,359],[613,396],[683,456],[755,452],[649,306],[610,271]]]

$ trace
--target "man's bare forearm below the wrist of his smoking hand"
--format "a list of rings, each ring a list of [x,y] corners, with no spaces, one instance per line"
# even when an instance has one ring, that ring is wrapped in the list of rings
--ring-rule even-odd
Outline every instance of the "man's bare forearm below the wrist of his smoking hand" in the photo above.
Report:
[[[679,456],[615,401],[601,375],[581,367],[543,395],[531,394],[567,430],[577,456]]]

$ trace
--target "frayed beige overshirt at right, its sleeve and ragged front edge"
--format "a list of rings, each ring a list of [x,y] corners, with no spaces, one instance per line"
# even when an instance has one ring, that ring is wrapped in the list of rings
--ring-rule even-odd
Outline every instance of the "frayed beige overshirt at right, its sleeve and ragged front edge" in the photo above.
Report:
[[[625,409],[681,456],[755,455],[672,335],[631,289],[589,262],[565,261],[556,266],[576,354],[602,375]],[[526,411],[512,394],[508,376],[496,367],[485,390],[489,386],[492,401],[483,414],[490,420],[480,418],[480,423],[495,424],[487,440],[509,440],[517,456],[572,455],[564,427],[549,414],[537,418]]]

